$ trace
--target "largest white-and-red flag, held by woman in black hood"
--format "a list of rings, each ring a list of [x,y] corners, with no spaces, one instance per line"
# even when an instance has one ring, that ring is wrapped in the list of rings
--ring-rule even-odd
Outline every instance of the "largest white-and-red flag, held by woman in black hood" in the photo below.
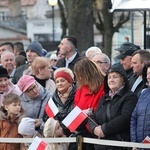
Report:
[[[62,123],[71,131],[75,132],[77,127],[87,118],[87,115],[76,106],[62,121]]]

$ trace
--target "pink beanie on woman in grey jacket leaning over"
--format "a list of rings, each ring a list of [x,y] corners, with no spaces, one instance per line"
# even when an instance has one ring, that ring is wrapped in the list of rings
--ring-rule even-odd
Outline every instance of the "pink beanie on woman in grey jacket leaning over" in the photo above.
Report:
[[[19,79],[17,85],[22,92],[25,92],[33,83],[35,83],[34,77],[24,75]]]

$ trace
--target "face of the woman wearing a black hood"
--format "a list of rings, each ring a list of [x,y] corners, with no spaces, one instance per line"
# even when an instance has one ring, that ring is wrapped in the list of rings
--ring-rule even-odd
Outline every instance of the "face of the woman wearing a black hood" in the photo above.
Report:
[[[112,92],[116,92],[124,84],[122,76],[117,72],[111,72],[108,74],[108,86]]]

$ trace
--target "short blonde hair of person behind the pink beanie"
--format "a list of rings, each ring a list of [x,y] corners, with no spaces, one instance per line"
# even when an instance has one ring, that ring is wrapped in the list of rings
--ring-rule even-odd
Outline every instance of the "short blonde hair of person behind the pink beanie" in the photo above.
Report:
[[[36,57],[34,61],[32,62],[32,74],[33,75],[38,75],[39,74],[39,69],[43,69],[47,65],[50,64],[50,61],[48,58],[45,57]]]

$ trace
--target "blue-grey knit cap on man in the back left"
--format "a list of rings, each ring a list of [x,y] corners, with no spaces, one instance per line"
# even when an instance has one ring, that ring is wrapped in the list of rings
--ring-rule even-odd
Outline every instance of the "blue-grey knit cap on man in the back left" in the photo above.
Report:
[[[39,56],[42,56],[42,45],[38,41],[33,41],[30,43],[26,49],[27,50],[32,50],[35,53],[37,53]]]

